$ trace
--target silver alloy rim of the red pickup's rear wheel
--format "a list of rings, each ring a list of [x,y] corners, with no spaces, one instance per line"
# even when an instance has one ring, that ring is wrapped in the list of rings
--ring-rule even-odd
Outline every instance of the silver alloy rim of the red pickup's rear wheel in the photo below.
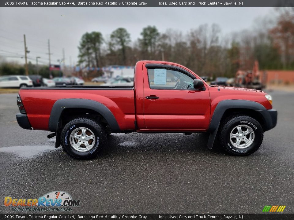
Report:
[[[79,152],[89,151],[95,145],[95,135],[89,128],[76,128],[70,134],[70,145]]]

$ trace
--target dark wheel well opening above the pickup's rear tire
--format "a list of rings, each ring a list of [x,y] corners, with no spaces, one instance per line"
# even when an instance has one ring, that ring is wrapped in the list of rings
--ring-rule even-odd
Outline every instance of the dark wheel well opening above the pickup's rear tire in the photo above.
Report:
[[[99,114],[98,112],[87,109],[87,108],[66,108],[62,111],[59,121],[61,123],[61,127],[65,126],[66,123],[70,122],[71,120],[78,118],[78,117],[87,117],[95,119],[96,121],[100,122],[104,125],[105,132],[107,134],[111,133],[111,128],[107,123],[106,119]]]

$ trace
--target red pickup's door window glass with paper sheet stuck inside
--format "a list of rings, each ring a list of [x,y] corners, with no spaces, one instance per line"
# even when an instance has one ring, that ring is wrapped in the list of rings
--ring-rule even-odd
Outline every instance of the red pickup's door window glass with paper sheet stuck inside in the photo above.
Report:
[[[150,89],[190,90],[194,78],[184,72],[169,68],[148,68]]]

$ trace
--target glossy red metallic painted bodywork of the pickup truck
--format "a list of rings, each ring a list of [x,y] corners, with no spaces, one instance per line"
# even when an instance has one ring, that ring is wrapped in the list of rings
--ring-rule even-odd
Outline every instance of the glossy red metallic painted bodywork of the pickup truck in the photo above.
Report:
[[[222,100],[244,99],[272,109],[262,91],[222,87],[210,87],[205,91],[151,90],[145,64],[169,64],[181,67],[197,79],[201,79],[186,67],[164,61],[139,61],[135,67],[134,90],[29,90],[21,89],[20,96],[31,126],[36,130],[48,130],[51,109],[55,101],[64,98],[89,99],[102,103],[115,116],[120,129],[150,131],[205,131],[211,116]],[[145,99],[156,95],[157,100]]]

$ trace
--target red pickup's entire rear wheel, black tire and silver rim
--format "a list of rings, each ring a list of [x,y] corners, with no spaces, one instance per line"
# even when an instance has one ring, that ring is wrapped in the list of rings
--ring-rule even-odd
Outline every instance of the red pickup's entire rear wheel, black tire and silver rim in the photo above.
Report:
[[[90,159],[98,155],[106,143],[107,135],[99,122],[90,118],[77,118],[67,123],[61,132],[63,150],[75,159]]]

